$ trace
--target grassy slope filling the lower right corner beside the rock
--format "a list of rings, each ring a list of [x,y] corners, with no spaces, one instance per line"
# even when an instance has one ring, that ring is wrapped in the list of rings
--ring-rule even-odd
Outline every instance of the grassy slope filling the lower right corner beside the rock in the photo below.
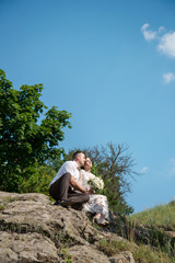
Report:
[[[101,240],[107,255],[130,251],[136,263],[175,263],[175,202],[120,218],[124,240]]]

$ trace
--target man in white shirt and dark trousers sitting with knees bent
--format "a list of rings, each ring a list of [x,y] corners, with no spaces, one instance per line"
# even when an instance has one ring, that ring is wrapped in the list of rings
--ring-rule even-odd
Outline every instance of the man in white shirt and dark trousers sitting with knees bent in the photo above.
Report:
[[[49,194],[56,201],[55,205],[68,207],[73,204],[89,202],[89,194],[77,182],[79,179],[79,168],[83,167],[84,162],[85,155],[82,151],[77,151],[73,155],[73,161],[65,162],[59,169],[49,184]],[[78,193],[74,190],[78,190],[81,193]]]

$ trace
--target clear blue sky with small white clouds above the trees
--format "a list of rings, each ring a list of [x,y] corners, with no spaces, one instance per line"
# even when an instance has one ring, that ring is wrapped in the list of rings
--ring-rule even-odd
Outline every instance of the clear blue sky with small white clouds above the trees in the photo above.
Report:
[[[175,196],[175,1],[0,0],[0,68],[72,113],[66,150],[128,144],[136,211]]]

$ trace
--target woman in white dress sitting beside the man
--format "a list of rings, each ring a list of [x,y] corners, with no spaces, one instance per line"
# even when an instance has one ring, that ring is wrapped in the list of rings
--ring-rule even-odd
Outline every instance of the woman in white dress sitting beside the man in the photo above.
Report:
[[[90,201],[83,204],[83,211],[94,213],[94,221],[100,225],[107,225],[108,217],[108,204],[107,197],[105,195],[94,194],[94,191],[89,185],[89,180],[94,179],[95,175],[91,173],[92,161],[90,158],[86,158],[84,163],[84,169],[80,171],[79,184],[82,185],[90,193]]]

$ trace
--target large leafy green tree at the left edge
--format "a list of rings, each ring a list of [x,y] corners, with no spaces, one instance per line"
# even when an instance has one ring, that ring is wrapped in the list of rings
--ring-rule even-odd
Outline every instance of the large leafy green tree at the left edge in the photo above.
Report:
[[[43,84],[13,89],[0,70],[0,190],[21,192],[23,182],[38,175],[38,167],[60,157],[63,128],[71,128],[67,111],[50,110],[39,100]],[[45,110],[45,114],[44,114]],[[42,121],[40,121],[42,119]],[[38,122],[40,121],[40,122]],[[39,124],[38,124],[39,123]],[[35,180],[34,180],[35,181]]]

